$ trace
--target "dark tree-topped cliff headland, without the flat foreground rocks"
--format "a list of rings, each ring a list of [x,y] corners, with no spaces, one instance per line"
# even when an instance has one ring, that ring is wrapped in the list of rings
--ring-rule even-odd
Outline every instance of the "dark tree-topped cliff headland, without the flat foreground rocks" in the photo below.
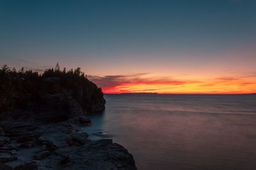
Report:
[[[102,90],[79,67],[66,71],[59,64],[42,74],[4,65],[0,69],[0,94],[2,115],[16,110],[16,114],[42,113],[44,117],[48,112],[52,117],[54,112],[65,120],[70,113],[104,110],[106,103]]]

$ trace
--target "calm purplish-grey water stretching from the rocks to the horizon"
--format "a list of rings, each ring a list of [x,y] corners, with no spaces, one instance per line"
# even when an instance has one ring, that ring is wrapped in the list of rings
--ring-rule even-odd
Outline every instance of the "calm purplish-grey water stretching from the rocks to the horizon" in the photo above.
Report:
[[[256,95],[106,95],[86,131],[150,169],[256,169]],[[92,138],[97,137],[92,135]]]

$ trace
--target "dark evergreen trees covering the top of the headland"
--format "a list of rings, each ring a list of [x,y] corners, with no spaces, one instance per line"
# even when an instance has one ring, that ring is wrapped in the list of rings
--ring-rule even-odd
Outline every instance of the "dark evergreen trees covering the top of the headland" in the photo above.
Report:
[[[45,69],[42,74],[25,70],[24,67],[17,71],[4,65],[0,69],[0,112],[10,111],[13,106],[26,105],[24,96],[31,96],[31,101],[40,101],[45,94],[63,91],[71,92],[79,103],[103,96],[102,90],[88,80],[80,67],[67,71],[60,69],[57,63],[56,67]]]

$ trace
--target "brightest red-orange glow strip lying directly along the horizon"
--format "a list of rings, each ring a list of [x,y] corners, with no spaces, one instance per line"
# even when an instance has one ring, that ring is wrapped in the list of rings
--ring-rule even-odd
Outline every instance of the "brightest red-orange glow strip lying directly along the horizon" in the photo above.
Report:
[[[256,80],[223,78],[209,81],[138,81],[103,87],[105,94],[250,94],[256,92]]]

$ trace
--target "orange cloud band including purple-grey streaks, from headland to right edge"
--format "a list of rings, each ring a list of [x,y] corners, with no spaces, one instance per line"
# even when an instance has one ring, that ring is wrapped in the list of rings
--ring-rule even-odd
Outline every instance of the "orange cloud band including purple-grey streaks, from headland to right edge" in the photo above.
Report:
[[[104,93],[156,92],[159,94],[246,94],[256,92],[256,77],[220,77],[209,80],[150,78],[146,73],[89,76]]]

